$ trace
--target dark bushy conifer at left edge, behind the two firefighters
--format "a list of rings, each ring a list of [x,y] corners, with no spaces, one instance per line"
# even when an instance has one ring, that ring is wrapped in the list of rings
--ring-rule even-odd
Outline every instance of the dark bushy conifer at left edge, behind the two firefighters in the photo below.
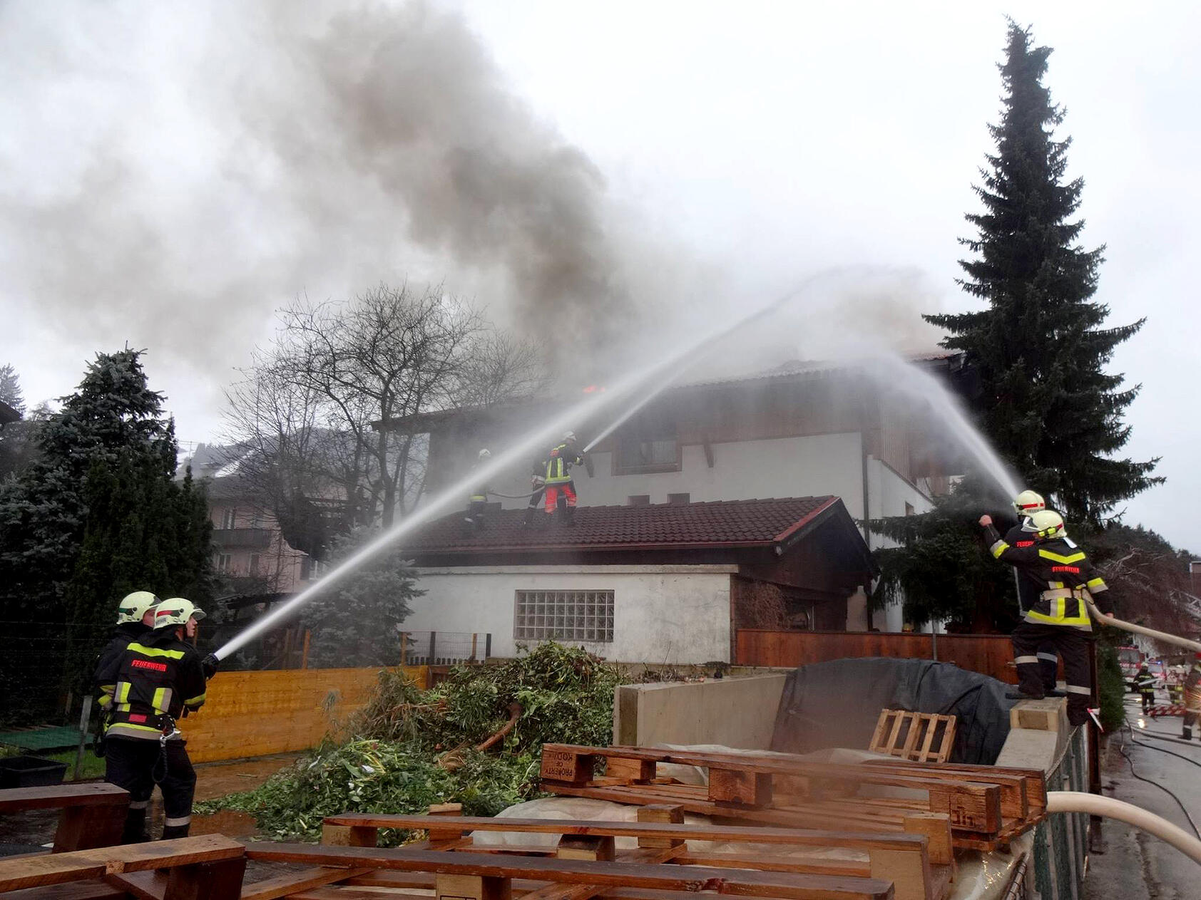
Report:
[[[38,451],[0,487],[0,618],[16,647],[0,647],[0,697],[43,713],[64,674],[86,674],[126,593],[208,599],[210,526],[203,491],[174,479],[174,425],[136,350],[97,354]]]

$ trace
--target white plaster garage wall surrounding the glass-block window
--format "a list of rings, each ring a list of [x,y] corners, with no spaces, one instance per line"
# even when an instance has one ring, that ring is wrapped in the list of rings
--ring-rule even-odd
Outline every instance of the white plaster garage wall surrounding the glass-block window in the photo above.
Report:
[[[614,640],[582,646],[616,662],[730,659],[733,565],[509,565],[418,569],[425,595],[406,631],[490,632],[492,655],[513,656],[518,590],[613,590]]]

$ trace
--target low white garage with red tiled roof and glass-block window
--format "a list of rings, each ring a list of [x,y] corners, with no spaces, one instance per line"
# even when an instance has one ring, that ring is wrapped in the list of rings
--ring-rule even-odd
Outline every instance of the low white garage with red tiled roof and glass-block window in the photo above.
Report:
[[[873,575],[830,496],[588,506],[572,528],[527,528],[520,510],[498,506],[480,533],[461,520],[402,544],[425,592],[405,628],[488,632],[497,656],[554,638],[616,661],[728,662],[736,628],[759,607],[841,630]]]

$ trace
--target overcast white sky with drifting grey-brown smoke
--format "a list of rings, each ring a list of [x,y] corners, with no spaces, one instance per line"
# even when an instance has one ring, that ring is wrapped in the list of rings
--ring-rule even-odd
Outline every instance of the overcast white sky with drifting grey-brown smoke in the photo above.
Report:
[[[1054,48],[1098,300],[1148,319],[1112,367],[1169,481],[1127,521],[1201,552],[1196,5],[351,8],[0,0],[0,364],[28,401],[129,342],[211,440],[275,308],[405,277],[586,342],[868,266],[894,288],[850,308],[928,338],[918,311],[972,308],[1008,13]]]

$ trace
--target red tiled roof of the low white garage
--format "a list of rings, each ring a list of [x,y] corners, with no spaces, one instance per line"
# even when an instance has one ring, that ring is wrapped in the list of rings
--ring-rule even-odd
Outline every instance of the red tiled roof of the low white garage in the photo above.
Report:
[[[431,522],[407,540],[402,553],[473,553],[537,550],[633,550],[771,546],[784,541],[839,503],[837,497],[764,500],[580,506],[575,524],[537,511],[524,527],[525,510],[490,510],[482,532],[468,530],[464,514]]]

